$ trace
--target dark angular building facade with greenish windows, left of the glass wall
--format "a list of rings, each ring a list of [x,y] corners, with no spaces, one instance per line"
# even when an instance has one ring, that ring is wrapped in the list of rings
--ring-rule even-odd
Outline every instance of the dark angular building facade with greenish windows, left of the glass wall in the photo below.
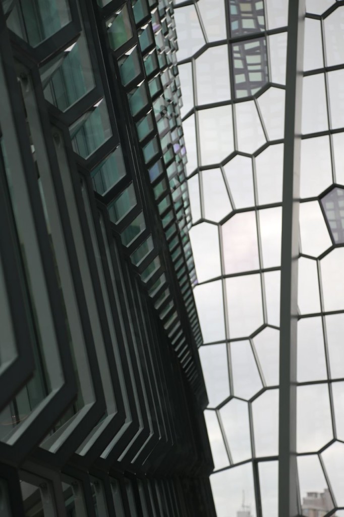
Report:
[[[173,6],[0,11],[0,514],[215,515]]]

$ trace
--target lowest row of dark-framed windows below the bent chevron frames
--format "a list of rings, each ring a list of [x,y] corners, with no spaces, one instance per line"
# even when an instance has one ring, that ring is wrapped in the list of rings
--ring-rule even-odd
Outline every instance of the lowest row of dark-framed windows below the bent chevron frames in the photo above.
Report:
[[[74,468],[61,474],[40,468],[32,474],[23,468],[18,479],[0,477],[0,489],[3,517],[181,517],[190,511],[190,501],[185,498],[178,478],[115,479],[87,475]],[[195,489],[204,490],[201,481],[191,486],[191,490]],[[13,501],[15,496],[17,501]],[[11,510],[13,502],[15,513]]]

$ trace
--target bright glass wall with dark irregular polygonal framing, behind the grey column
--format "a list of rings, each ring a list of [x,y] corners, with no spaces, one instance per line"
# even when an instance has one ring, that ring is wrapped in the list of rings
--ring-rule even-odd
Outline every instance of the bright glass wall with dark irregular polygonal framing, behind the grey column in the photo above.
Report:
[[[214,502],[218,517],[276,517],[288,2],[174,7]],[[304,517],[344,515],[343,27],[343,2],[306,2],[293,280]]]

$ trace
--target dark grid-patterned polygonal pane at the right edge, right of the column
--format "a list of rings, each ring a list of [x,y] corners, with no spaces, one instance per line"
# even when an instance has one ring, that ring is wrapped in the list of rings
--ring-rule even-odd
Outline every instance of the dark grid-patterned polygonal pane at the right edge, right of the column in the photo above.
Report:
[[[335,187],[321,199],[335,244],[344,244],[344,187]]]

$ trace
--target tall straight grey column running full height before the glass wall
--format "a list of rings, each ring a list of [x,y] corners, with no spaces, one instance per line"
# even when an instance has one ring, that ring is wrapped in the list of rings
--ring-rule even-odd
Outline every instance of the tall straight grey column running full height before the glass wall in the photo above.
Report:
[[[296,470],[296,337],[305,0],[289,0],[279,356],[278,517],[298,515]]]

